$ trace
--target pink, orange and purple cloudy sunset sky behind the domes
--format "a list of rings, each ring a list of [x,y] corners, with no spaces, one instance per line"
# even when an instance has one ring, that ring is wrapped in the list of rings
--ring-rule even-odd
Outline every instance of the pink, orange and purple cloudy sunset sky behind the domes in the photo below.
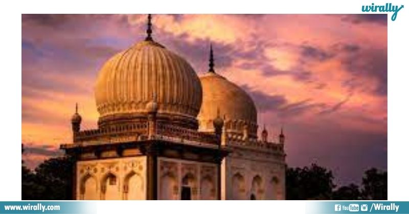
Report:
[[[146,15],[22,15],[22,158],[30,168],[97,127],[102,64],[146,36]],[[153,15],[153,38],[200,76],[216,73],[253,98],[269,140],[286,135],[289,167],[317,163],[339,185],[387,170],[387,15]],[[261,131],[261,129],[259,130]]]

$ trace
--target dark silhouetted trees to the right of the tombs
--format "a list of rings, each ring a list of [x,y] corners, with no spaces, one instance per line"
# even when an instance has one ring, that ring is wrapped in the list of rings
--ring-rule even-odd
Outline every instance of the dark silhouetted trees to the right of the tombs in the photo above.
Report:
[[[356,184],[335,189],[332,172],[312,164],[286,171],[287,200],[388,200],[388,173],[367,170],[361,187]]]

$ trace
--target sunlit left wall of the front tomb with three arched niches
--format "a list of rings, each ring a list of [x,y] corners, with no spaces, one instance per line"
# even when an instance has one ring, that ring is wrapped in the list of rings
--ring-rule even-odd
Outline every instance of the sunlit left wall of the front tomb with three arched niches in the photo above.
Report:
[[[77,200],[146,199],[146,157],[77,162]]]

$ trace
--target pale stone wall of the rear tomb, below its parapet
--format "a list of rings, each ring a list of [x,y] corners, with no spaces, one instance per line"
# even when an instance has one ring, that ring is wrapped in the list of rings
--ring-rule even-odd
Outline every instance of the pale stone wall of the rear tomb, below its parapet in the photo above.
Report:
[[[280,156],[233,148],[221,171],[222,200],[285,199],[285,162]]]

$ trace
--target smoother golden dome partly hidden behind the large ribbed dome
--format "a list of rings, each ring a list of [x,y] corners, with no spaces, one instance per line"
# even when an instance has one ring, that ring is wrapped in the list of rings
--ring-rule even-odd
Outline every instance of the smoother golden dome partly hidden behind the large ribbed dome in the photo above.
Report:
[[[247,128],[249,137],[257,137],[256,106],[243,89],[214,72],[201,76],[200,82],[203,100],[197,116],[199,131],[214,131],[213,120],[219,109],[225,116],[226,131],[243,134]]]

